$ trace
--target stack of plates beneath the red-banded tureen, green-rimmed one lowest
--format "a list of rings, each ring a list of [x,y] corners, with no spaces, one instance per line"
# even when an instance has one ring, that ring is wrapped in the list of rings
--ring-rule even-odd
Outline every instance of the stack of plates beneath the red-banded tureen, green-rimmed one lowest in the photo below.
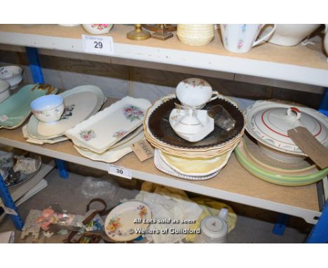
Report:
[[[285,163],[272,159],[261,150],[256,140],[248,138],[247,135],[235,148],[235,156],[240,164],[254,176],[275,185],[310,185],[328,175],[328,168],[319,170],[307,160]]]

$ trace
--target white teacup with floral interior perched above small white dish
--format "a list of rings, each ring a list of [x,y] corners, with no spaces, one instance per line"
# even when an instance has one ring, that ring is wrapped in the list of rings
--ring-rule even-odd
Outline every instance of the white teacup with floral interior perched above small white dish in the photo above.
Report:
[[[181,81],[177,85],[176,94],[182,105],[190,109],[202,109],[207,102],[219,96],[217,91],[212,91],[212,86],[207,81],[199,78]],[[213,94],[214,97],[212,97]]]

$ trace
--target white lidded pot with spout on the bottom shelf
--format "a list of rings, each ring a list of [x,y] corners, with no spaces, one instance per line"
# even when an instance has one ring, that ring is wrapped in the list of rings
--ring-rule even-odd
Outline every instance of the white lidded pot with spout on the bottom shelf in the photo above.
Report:
[[[200,234],[195,243],[226,243],[228,209],[221,208],[219,217],[207,216],[200,222]]]

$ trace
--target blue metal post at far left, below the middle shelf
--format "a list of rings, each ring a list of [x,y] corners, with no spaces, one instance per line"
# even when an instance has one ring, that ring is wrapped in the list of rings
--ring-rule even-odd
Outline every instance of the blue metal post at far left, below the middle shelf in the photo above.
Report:
[[[18,209],[11,198],[11,194],[9,193],[6,184],[4,182],[4,178],[0,174],[0,198],[2,199],[2,202],[4,203],[4,206],[7,208],[11,208],[12,210],[15,210],[17,215],[10,215],[11,221],[13,222],[13,225],[16,229],[19,231],[22,231],[22,227],[24,226],[24,222],[22,220],[22,217],[20,217],[20,213],[18,213]]]

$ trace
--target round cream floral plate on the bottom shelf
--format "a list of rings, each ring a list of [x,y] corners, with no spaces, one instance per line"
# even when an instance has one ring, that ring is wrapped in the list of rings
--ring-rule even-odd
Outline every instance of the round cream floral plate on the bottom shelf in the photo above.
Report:
[[[146,203],[128,201],[111,210],[105,220],[104,231],[114,241],[131,241],[141,235],[136,231],[146,229],[150,222],[151,209]]]

